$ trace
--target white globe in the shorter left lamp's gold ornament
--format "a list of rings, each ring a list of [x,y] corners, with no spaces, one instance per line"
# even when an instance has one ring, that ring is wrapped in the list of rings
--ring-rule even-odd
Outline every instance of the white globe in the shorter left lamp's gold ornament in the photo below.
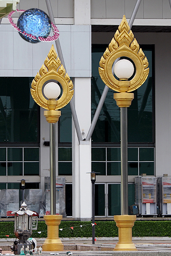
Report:
[[[44,94],[48,99],[56,99],[60,95],[60,87],[56,82],[48,82],[44,87]]]

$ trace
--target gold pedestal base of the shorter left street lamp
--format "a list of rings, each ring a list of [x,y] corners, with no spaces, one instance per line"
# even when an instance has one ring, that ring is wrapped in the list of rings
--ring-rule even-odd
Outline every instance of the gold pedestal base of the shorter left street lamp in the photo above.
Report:
[[[44,215],[48,226],[48,237],[42,245],[43,251],[63,251],[63,244],[59,239],[59,224],[62,215]]]

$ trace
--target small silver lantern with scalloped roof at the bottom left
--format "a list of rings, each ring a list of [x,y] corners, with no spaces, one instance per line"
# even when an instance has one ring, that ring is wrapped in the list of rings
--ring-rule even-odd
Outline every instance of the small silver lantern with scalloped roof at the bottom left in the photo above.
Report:
[[[11,247],[14,254],[20,254],[20,249],[26,249],[29,246],[29,250],[33,249],[33,244],[27,239],[32,234],[32,229],[37,229],[37,224],[32,228],[33,223],[33,214],[36,212],[27,209],[27,204],[23,202],[22,207],[19,210],[13,211],[14,214],[14,234],[18,240],[14,242],[14,245]],[[37,217],[34,217],[37,219]]]

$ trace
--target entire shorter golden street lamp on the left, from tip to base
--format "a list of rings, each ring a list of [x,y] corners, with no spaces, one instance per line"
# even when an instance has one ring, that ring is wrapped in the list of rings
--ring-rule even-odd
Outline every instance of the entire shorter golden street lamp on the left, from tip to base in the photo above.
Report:
[[[59,96],[61,91],[59,84],[62,88],[61,96]],[[73,83],[61,65],[53,45],[39,73],[34,77],[30,91],[34,101],[46,109],[44,115],[50,123],[50,215],[44,216],[48,226],[48,238],[42,249],[63,250],[63,244],[58,237],[58,226],[62,215],[56,215],[55,123],[61,115],[59,109],[70,102],[74,90]]]

